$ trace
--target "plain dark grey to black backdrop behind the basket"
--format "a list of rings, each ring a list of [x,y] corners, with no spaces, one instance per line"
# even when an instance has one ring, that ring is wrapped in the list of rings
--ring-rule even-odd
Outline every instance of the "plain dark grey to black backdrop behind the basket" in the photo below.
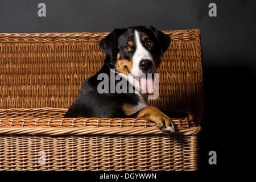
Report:
[[[46,3],[46,17],[38,3]],[[217,5],[209,17],[208,5]],[[0,1],[0,32],[109,32],[151,24],[159,30],[199,28],[205,83],[205,121],[199,172],[247,169],[255,106],[255,1]],[[251,103],[251,104],[249,104]],[[245,131],[245,132],[244,132]],[[217,152],[217,165],[208,152]],[[246,155],[244,155],[245,153]]]

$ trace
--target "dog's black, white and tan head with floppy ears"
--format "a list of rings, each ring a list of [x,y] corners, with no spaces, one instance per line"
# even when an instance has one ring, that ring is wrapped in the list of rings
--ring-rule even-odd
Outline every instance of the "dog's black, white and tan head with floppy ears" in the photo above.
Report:
[[[100,48],[116,72],[136,78],[155,73],[170,42],[170,36],[152,26],[137,26],[113,30],[101,40]]]

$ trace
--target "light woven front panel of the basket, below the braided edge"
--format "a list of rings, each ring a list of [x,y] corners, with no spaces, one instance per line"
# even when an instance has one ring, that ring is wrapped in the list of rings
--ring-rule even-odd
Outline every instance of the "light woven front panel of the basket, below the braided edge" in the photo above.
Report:
[[[196,136],[0,136],[0,170],[196,170]]]

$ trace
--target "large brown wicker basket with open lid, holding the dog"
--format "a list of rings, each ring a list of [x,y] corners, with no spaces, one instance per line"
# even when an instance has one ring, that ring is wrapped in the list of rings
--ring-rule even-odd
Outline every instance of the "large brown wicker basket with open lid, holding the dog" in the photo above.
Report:
[[[0,34],[1,170],[195,170],[203,117],[199,30],[164,31],[171,45],[156,72],[167,135],[133,118],[63,118],[86,77],[102,66],[108,33]]]

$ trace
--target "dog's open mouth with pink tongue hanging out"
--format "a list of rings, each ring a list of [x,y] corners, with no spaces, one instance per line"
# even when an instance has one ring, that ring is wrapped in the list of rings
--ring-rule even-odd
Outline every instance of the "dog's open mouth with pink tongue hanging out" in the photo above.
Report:
[[[155,81],[154,81],[154,73],[147,73],[140,76],[135,76],[131,73],[130,69],[127,68],[127,72],[137,81],[139,81],[139,85],[141,86],[144,93],[152,94],[155,89]],[[151,74],[151,75],[150,75]]]

